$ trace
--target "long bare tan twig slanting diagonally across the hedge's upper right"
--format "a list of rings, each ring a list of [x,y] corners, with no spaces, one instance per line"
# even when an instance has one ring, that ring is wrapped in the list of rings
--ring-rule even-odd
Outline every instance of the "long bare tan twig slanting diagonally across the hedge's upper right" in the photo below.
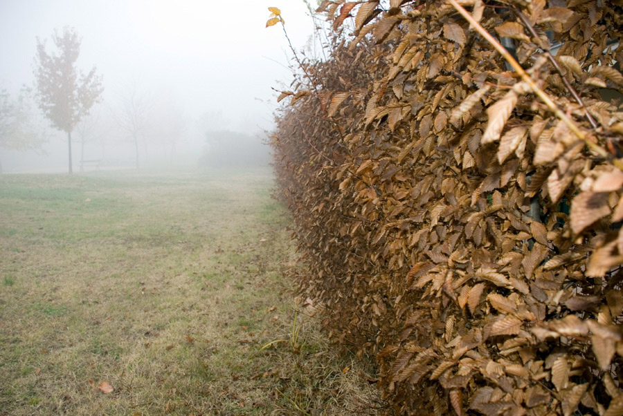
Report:
[[[572,133],[576,135],[579,140],[582,140],[589,149],[602,156],[602,158],[610,160],[615,165],[615,167],[623,171],[623,162],[621,160],[613,158],[613,156],[608,153],[606,149],[604,149],[602,146],[599,146],[599,144],[593,142],[594,139],[592,137],[586,135],[584,131],[581,131],[579,127],[570,119],[570,117],[563,113],[563,111],[557,106],[557,104],[554,103],[550,96],[545,93],[545,91],[543,91],[538,85],[536,85],[534,79],[532,79],[532,77],[530,77],[530,75],[525,72],[521,65],[519,65],[514,57],[512,57],[512,55],[508,52],[508,50],[506,50],[504,46],[500,45],[500,42],[498,42],[493,36],[491,36],[491,34],[487,32],[485,28],[480,26],[480,23],[473,19],[469,12],[467,12],[467,10],[465,10],[459,3],[457,3],[456,0],[448,1],[449,3],[451,3],[453,8],[455,8],[455,10],[457,10],[462,15],[462,17],[465,18],[465,20],[469,21],[469,24],[471,24],[471,26],[475,28],[478,33],[480,33],[480,35],[482,35],[482,37],[484,37],[489,42],[489,44],[491,44],[491,46],[493,46],[500,53],[500,55],[502,55],[504,59],[506,59],[506,61],[513,67],[516,73],[521,76],[523,82],[530,86],[532,91],[539,98],[541,98],[541,100],[543,100],[545,105],[550,108],[550,110],[559,118],[559,120],[561,120],[569,127],[570,131],[572,131]]]

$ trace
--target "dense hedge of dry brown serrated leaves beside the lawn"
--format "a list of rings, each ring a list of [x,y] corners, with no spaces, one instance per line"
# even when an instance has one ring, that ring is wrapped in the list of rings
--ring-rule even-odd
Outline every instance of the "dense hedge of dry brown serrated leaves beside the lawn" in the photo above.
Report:
[[[301,292],[399,414],[623,415],[622,2],[389,3],[280,95]]]

